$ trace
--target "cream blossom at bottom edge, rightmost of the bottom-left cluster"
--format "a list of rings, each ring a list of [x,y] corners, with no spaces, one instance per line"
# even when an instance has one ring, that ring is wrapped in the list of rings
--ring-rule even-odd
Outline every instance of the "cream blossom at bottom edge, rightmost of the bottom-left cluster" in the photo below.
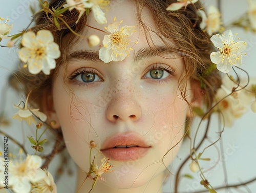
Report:
[[[44,173],[44,178],[32,184],[34,188],[31,193],[57,193],[56,184],[54,183],[53,177],[49,171],[46,169],[42,170],[40,168],[39,170]]]

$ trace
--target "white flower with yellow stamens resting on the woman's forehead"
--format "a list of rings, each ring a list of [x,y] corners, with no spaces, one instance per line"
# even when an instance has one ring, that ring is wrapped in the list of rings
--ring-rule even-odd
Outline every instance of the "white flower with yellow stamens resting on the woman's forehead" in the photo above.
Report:
[[[135,32],[135,26],[119,28],[120,23],[115,22],[105,28],[110,34],[104,36],[103,47],[99,50],[99,58],[105,63],[122,61],[132,50],[129,37]]]

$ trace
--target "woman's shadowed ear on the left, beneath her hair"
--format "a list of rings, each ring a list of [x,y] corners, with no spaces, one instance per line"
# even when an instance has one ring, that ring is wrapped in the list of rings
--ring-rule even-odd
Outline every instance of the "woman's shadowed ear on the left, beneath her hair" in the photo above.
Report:
[[[60,128],[56,111],[54,110],[51,89],[46,89],[42,94],[42,111],[47,115],[47,122],[52,128]]]

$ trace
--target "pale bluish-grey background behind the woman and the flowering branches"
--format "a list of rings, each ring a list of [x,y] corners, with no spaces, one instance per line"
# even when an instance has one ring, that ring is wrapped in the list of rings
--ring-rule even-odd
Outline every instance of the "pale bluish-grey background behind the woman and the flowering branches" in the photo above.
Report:
[[[25,28],[30,22],[30,11],[29,11],[29,3],[35,3],[35,0],[0,0],[0,17],[9,17],[10,24],[14,24],[13,30],[11,34],[17,33],[23,28]],[[215,1],[207,0],[206,5],[214,4]],[[222,16],[224,24],[228,24],[232,19],[238,18],[240,15],[245,13],[247,10],[246,1],[242,0],[222,0]],[[247,41],[248,48],[246,50],[247,56],[244,57],[244,65],[243,69],[246,70],[251,77],[256,77],[256,34],[252,34],[251,32],[244,32],[242,29],[233,28],[233,32],[238,32],[238,37],[241,40]],[[1,45],[5,45],[6,41],[0,42]],[[6,117],[10,119],[10,117],[16,112],[12,108],[13,103],[18,103],[19,99],[22,96],[17,96],[15,92],[9,89],[7,85],[7,78],[10,73],[13,72],[17,68],[17,49],[9,49],[9,48],[0,48],[0,112],[5,112]],[[6,98],[7,97],[7,98]],[[24,98],[23,98],[24,100]],[[2,101],[5,101],[3,103]],[[251,111],[246,113],[241,119],[237,120],[231,128],[226,128],[223,134],[223,149],[225,155],[223,155],[223,159],[226,161],[226,167],[228,172],[228,182],[232,184],[238,182],[244,182],[248,179],[251,179],[253,175],[256,175],[256,114],[253,114]],[[25,140],[24,134],[22,134],[21,128],[26,127],[26,124],[21,124],[19,121],[12,121],[9,126],[2,127],[5,132],[16,134],[16,138],[20,138]],[[30,128],[31,129],[31,128]],[[213,134],[214,135],[214,134]],[[0,150],[2,149],[3,138],[0,137]],[[28,145],[28,144],[27,144]],[[12,148],[12,147],[10,147]],[[14,148],[15,150],[15,148]],[[183,152],[177,156],[174,161],[174,165],[172,167],[172,171],[175,171],[176,164],[180,163],[180,160],[183,159]],[[216,152],[208,152],[209,155],[216,154]],[[216,158],[218,154],[216,154]],[[57,158],[55,159],[53,164],[58,163]],[[50,166],[51,172],[54,174],[55,166],[53,164]],[[224,184],[223,181],[223,170],[221,169],[223,165],[223,161],[221,160],[217,166],[212,169],[208,175],[208,180],[212,185],[219,186],[220,184]],[[75,171],[74,163],[70,162],[71,170]],[[67,169],[68,170],[68,169]],[[191,171],[184,170],[183,173],[191,174]],[[175,173],[174,173],[175,174]],[[172,181],[171,177],[170,180]],[[203,189],[202,186],[199,187],[198,181],[200,181],[199,174],[195,175],[193,180],[184,180],[181,181],[181,190],[183,192],[194,192],[196,190]],[[62,175],[58,179],[58,192],[73,192],[74,191],[75,178],[70,178],[67,175]],[[170,192],[168,189],[170,187],[170,183],[166,183],[164,186],[165,192]],[[251,189],[249,191],[246,187],[241,187],[240,190],[223,190],[218,192],[255,192],[256,183],[249,184],[248,187]]]

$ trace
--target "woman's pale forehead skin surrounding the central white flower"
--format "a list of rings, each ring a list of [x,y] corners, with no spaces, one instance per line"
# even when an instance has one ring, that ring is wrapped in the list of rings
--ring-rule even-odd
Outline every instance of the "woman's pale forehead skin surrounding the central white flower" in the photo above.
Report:
[[[146,46],[148,47],[148,42],[147,42],[145,32],[139,24],[136,5],[134,1],[125,0],[125,1],[122,1],[122,3],[120,3],[120,1],[112,0],[110,1],[109,9],[103,10],[103,11],[105,12],[105,17],[108,20],[108,23],[104,25],[98,24],[93,17],[93,13],[90,12],[87,19],[87,25],[89,27],[84,27],[84,30],[82,32],[83,35],[86,35],[86,37],[89,37],[90,35],[95,34],[99,36],[100,40],[103,40],[104,35],[109,33],[108,31],[106,31],[105,27],[108,27],[108,25],[110,25],[111,23],[114,23],[114,18],[115,18],[116,22],[122,22],[120,24],[120,27],[122,26],[136,27],[136,32],[133,33],[133,35],[131,36],[131,42],[130,42],[131,46],[133,46],[134,51],[139,50]],[[154,29],[154,31],[156,30],[155,23],[152,18],[152,12],[149,8],[143,7],[141,12],[141,18],[143,20],[143,23],[147,26],[147,28]],[[159,38],[158,35],[155,32],[154,33],[150,32],[150,36],[154,41],[154,44],[157,46],[163,46],[161,38]],[[134,42],[138,42],[138,43],[135,44]],[[83,38],[81,41],[76,41],[75,46],[71,48],[71,52],[78,51],[81,49],[99,51],[100,46],[95,46],[90,48],[87,44],[86,38]]]

